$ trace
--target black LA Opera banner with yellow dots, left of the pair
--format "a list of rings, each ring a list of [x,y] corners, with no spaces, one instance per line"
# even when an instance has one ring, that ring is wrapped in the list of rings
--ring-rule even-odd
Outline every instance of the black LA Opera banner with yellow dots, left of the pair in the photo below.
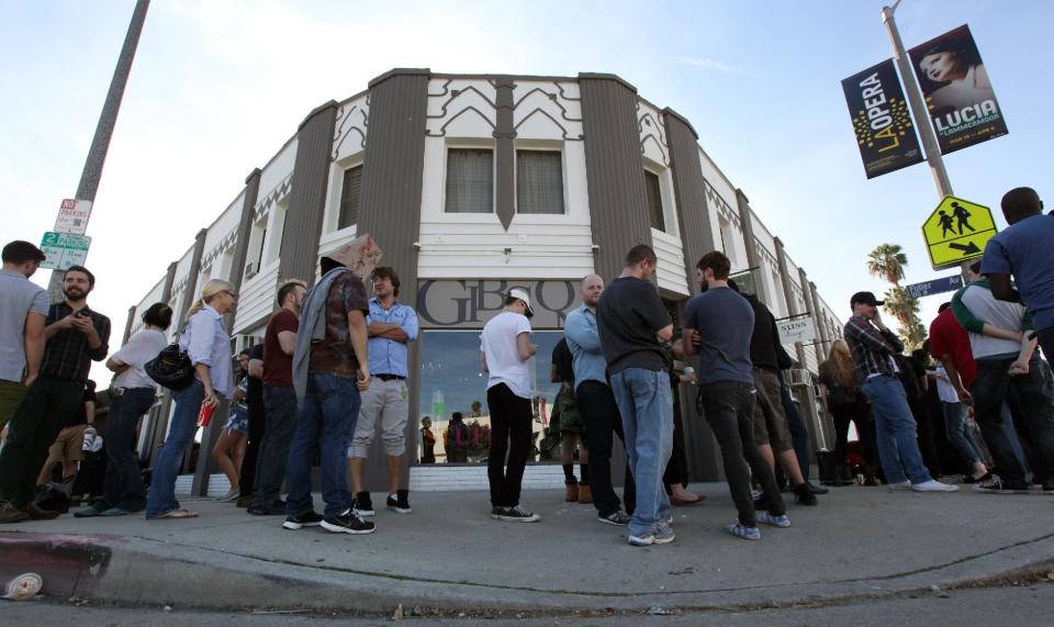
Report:
[[[846,78],[842,91],[868,179],[922,160],[893,59]]]

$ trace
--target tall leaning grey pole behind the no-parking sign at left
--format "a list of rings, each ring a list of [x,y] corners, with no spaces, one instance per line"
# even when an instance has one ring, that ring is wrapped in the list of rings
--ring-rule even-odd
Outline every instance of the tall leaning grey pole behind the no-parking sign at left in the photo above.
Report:
[[[96,125],[96,136],[91,141],[88,159],[85,160],[85,169],[80,173],[80,184],[77,186],[77,195],[75,197],[79,200],[92,202],[96,200],[99,179],[102,177],[102,166],[105,164],[106,153],[110,150],[110,139],[113,137],[113,127],[117,123],[121,99],[124,98],[124,88],[128,82],[132,60],[135,59],[139,34],[143,32],[146,10],[149,7],[150,0],[136,0],[132,22],[128,24],[128,32],[124,36],[124,46],[121,48],[121,56],[117,57],[117,67],[113,70],[113,79],[110,81],[110,91],[106,93],[106,101],[102,105],[102,113],[99,115],[99,123]],[[63,299],[63,279],[65,277],[66,272],[52,271],[52,278],[47,285],[52,302]]]

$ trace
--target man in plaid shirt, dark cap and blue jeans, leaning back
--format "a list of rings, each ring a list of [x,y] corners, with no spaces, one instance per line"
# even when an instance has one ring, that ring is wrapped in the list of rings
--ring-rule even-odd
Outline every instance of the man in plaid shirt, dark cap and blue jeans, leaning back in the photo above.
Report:
[[[915,418],[893,359],[904,350],[904,344],[882,322],[878,307],[883,304],[871,292],[853,294],[853,317],[845,323],[844,335],[853,352],[860,389],[871,401],[886,483],[890,490],[955,492],[958,486],[934,481],[922,464]]]

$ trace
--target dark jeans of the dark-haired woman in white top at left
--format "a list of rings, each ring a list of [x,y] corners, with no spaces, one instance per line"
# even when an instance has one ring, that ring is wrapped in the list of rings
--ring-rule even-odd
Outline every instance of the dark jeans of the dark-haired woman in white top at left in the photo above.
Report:
[[[127,388],[114,396],[106,415],[106,474],[103,479],[103,503],[125,512],[139,512],[146,505],[143,473],[135,459],[135,426],[150,411],[157,390]]]

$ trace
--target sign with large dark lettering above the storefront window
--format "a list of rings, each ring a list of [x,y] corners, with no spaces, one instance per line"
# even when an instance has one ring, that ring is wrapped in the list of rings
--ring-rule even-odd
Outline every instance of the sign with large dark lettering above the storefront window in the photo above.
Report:
[[[535,311],[532,328],[563,328],[579,306],[578,281],[428,280],[417,289],[417,317],[425,328],[480,328],[502,311],[505,294],[523,288]]]

